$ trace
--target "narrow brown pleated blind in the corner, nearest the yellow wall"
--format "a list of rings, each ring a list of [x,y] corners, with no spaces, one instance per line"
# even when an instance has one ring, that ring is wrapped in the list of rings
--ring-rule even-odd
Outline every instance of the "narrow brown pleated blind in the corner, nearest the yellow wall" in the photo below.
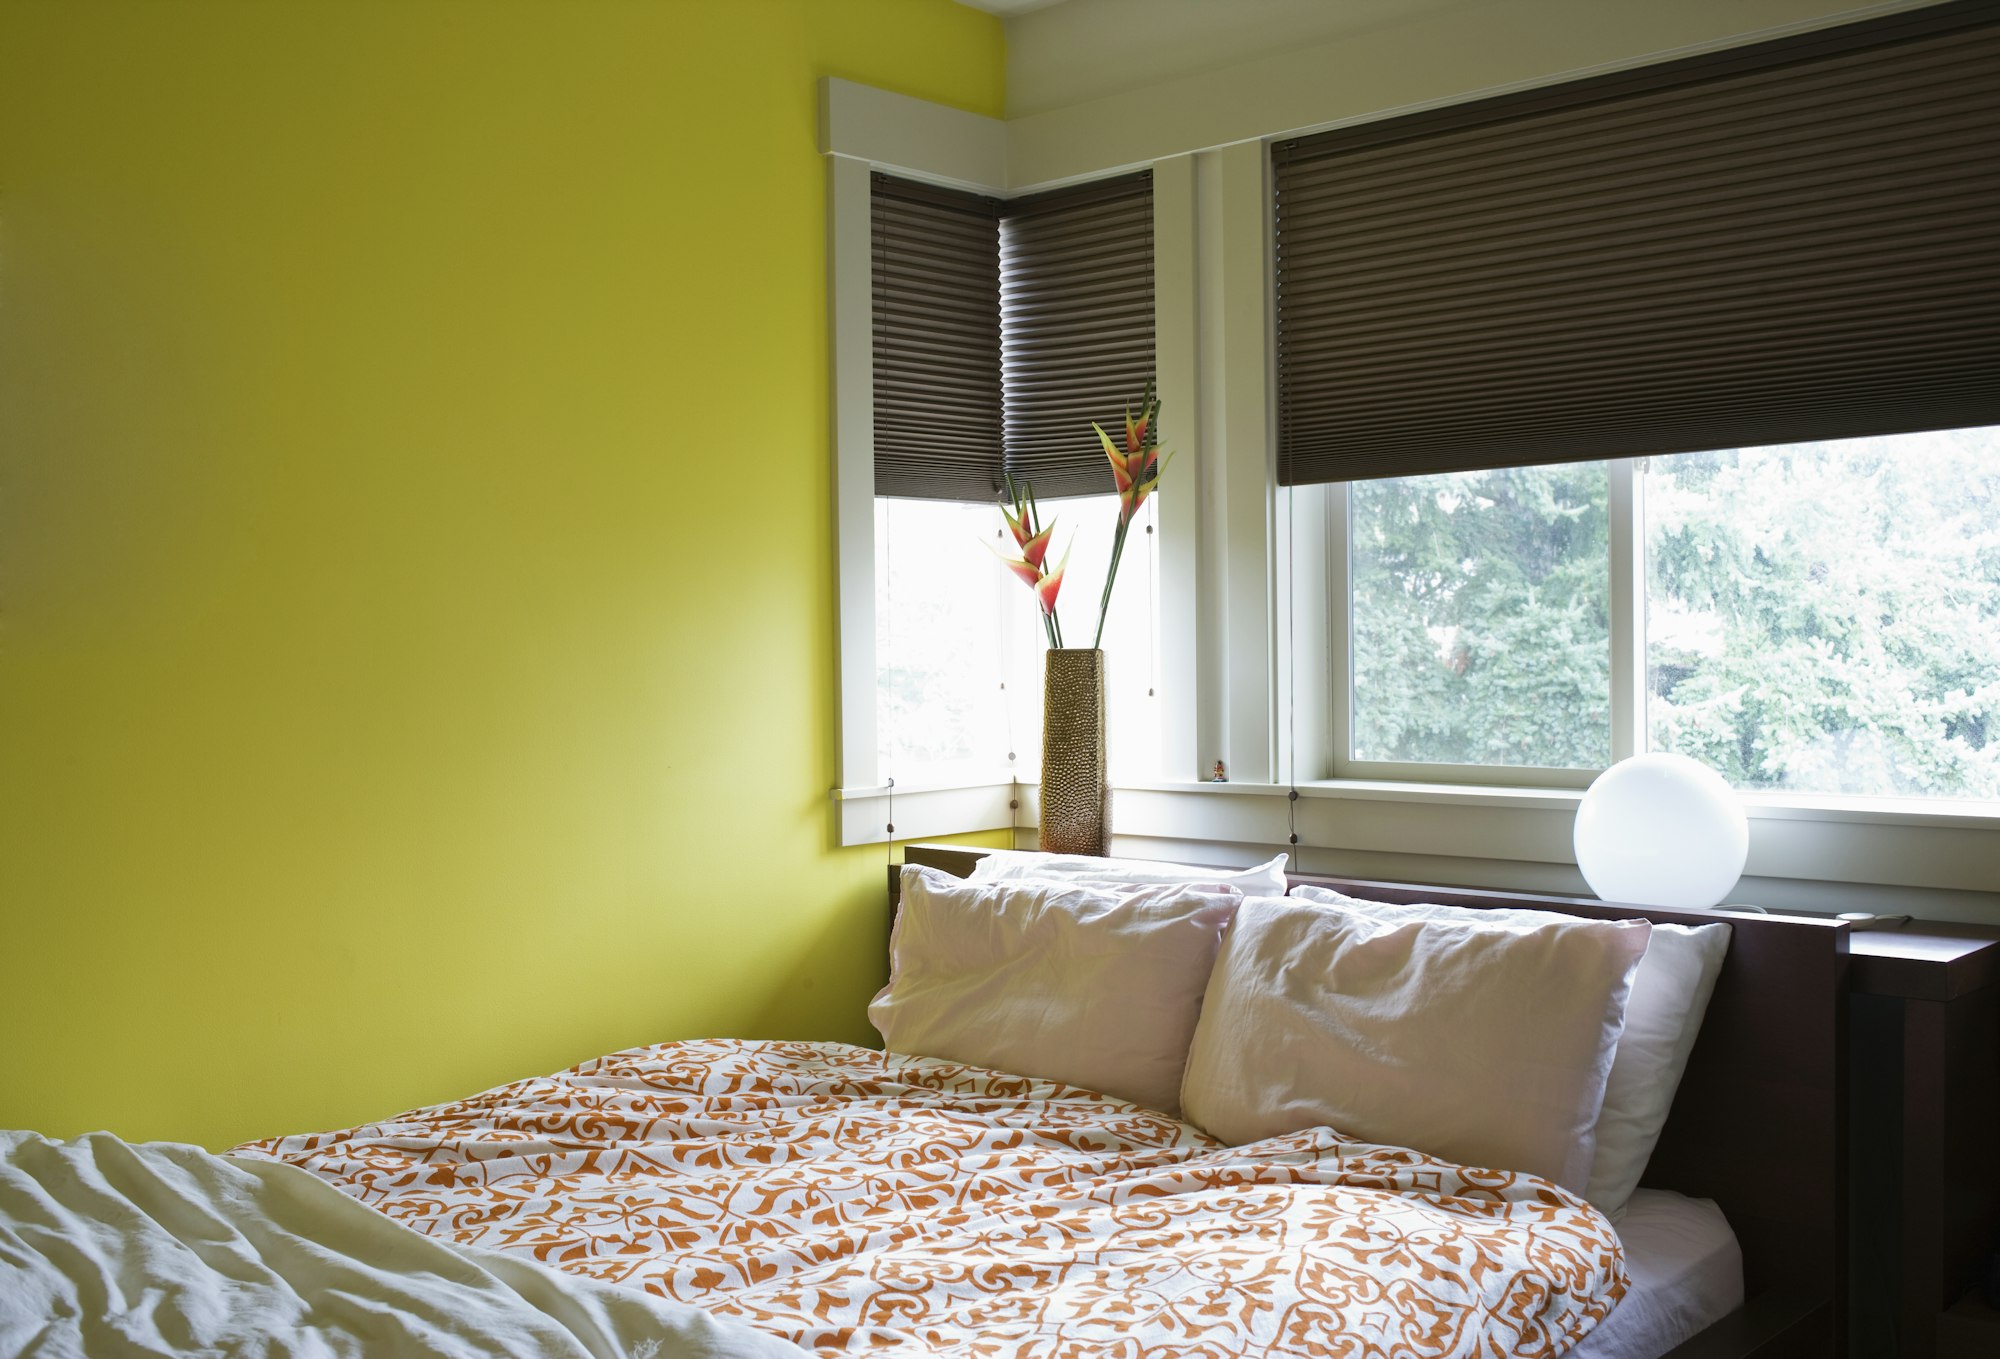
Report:
[[[1000,488],[1000,202],[874,176],[876,496]]]

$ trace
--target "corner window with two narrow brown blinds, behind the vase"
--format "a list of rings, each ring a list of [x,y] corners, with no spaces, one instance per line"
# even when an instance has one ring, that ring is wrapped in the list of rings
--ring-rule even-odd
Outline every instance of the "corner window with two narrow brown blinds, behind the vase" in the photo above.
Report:
[[[1042,632],[986,544],[1004,476],[1034,486],[1058,614],[1090,646],[1118,498],[1090,424],[1152,380],[1152,176],[1000,202],[870,176],[874,765],[898,785],[1032,775]],[[1156,771],[1152,534],[1128,542],[1106,628],[1110,749]]]

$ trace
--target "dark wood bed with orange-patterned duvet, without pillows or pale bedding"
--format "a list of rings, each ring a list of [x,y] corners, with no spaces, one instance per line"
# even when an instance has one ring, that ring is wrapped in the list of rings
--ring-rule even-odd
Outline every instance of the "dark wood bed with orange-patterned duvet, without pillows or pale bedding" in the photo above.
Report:
[[[588,1353],[1658,1359],[1696,1327],[1676,1359],[1834,1353],[1844,929],[1732,923],[1616,1229],[1528,1173],[1328,1127],[1228,1145],[1094,1089],[840,1043],[632,1049],[232,1165],[310,1171],[410,1239],[588,1285],[600,1313],[646,1297],[660,1335],[724,1327]]]

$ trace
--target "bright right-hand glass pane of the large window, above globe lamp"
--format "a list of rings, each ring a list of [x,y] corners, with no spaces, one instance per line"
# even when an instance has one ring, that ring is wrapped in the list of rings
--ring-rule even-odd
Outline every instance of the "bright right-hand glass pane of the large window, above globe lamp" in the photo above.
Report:
[[[2000,430],[1654,458],[1644,494],[1652,749],[2000,797]]]

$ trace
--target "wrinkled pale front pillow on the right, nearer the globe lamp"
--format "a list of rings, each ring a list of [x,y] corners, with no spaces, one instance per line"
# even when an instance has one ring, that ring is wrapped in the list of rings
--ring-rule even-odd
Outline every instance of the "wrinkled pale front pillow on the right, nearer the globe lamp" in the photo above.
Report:
[[[1460,1165],[1590,1177],[1646,921],[1386,923],[1244,901],[1180,1097],[1230,1143],[1328,1125]]]

